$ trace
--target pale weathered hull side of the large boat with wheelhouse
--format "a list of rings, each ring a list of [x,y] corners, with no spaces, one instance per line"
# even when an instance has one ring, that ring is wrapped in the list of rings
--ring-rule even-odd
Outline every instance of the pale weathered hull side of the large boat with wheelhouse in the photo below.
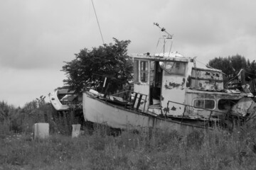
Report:
[[[181,130],[183,132],[191,132],[194,128],[203,128],[198,125],[181,123],[147,113],[140,113],[139,111],[122,106],[116,106],[97,98],[97,96],[87,91],[82,95],[82,108],[85,121],[105,124],[111,128],[160,128],[162,130]]]

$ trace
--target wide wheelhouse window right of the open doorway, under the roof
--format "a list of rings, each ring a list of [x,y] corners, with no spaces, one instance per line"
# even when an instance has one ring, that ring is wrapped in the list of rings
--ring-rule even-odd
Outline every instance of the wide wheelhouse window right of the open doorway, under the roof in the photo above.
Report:
[[[166,62],[164,64],[164,75],[185,76],[186,62]]]

